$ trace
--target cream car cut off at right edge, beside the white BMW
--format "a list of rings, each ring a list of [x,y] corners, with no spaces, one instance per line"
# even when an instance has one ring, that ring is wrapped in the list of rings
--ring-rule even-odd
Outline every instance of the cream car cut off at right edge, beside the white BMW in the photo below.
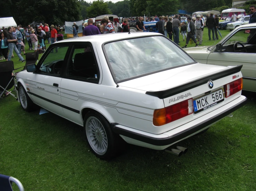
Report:
[[[243,90],[256,92],[256,23],[237,27],[217,45],[184,49],[197,62],[243,65]]]

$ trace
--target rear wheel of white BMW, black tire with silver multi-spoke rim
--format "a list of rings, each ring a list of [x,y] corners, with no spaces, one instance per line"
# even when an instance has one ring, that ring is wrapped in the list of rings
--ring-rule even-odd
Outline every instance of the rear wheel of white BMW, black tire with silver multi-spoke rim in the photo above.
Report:
[[[100,122],[102,126],[98,122]],[[95,123],[97,123],[97,125],[95,125]],[[94,125],[97,127],[96,129],[92,130]],[[120,145],[122,138],[120,135],[115,134],[112,131],[110,123],[103,115],[96,111],[89,111],[84,117],[83,129],[85,131],[86,141],[90,147],[90,150],[96,155],[96,157],[104,160],[109,160],[116,157],[120,151],[118,145]],[[88,129],[91,129],[92,131],[88,132]],[[106,149],[104,148],[103,144],[106,146]],[[99,148],[96,148],[98,145]]]

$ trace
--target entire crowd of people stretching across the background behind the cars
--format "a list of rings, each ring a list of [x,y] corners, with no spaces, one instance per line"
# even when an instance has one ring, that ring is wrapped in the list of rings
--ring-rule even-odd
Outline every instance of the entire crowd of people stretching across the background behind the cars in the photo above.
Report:
[[[250,6],[250,20],[249,23],[256,22],[256,7]],[[157,21],[156,28],[159,33],[169,37],[170,40],[173,40],[176,44],[179,44],[179,36],[183,37],[183,41],[186,44],[182,48],[186,48],[189,40],[195,42],[195,46],[202,44],[203,30],[204,25],[208,28],[209,40],[218,40],[218,24],[219,17],[217,14],[213,15],[210,13],[210,16],[206,17],[204,22],[203,15],[194,15],[189,17],[186,15],[187,23],[181,22],[180,15],[176,14],[175,16],[155,16],[155,17],[146,17],[146,21]],[[236,15],[233,14],[232,20],[236,20]],[[97,34],[107,34],[107,33],[116,33],[116,32],[129,32],[129,23],[135,22],[137,31],[145,30],[143,17],[130,17],[122,18],[118,21],[110,21],[108,16],[105,16],[100,24],[94,26],[94,21],[89,19],[86,23],[82,23],[82,36],[91,36]],[[205,23],[205,24],[204,24]],[[78,37],[78,29],[76,22],[73,23],[73,37]],[[43,53],[46,50],[46,40],[47,44],[52,44],[57,41],[58,34],[60,31],[59,27],[54,25],[48,26],[47,23],[44,25],[41,23],[38,27],[22,28],[21,25],[17,27],[5,27],[2,28],[0,35],[0,60],[6,59],[6,61],[14,58],[13,52],[15,52],[19,58],[19,61],[24,62],[22,53],[25,55],[25,44],[27,39],[29,50],[34,50],[35,52]],[[211,38],[212,33],[212,38]],[[197,44],[197,42],[199,42]],[[58,50],[56,50],[58,51]]]

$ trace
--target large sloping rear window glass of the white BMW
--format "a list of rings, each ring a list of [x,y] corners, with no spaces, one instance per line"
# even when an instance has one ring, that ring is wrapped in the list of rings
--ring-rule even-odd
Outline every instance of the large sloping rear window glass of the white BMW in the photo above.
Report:
[[[194,62],[164,36],[121,40],[104,48],[116,81]]]

